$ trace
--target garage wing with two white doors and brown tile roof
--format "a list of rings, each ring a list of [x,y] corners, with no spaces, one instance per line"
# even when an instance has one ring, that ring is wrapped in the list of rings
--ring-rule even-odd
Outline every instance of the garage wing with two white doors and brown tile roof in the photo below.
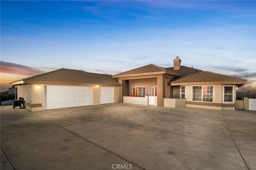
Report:
[[[121,86],[111,75],[64,68],[10,84],[30,111],[116,103]]]

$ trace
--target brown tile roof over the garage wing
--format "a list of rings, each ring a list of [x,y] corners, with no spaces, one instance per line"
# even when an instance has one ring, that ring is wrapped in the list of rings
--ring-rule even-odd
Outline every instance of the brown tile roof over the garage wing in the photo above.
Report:
[[[89,73],[82,70],[74,69],[58,69],[47,73],[35,75],[22,79],[24,84],[32,83],[50,83],[50,84],[68,84],[68,85],[113,85],[120,86],[117,79],[112,78],[112,75]],[[19,82],[19,81],[15,81]],[[15,83],[12,82],[12,83]]]

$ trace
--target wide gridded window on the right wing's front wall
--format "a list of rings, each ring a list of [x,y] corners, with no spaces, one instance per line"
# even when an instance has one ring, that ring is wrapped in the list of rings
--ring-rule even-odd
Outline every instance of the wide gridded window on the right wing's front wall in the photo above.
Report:
[[[193,101],[213,101],[213,86],[193,86]]]

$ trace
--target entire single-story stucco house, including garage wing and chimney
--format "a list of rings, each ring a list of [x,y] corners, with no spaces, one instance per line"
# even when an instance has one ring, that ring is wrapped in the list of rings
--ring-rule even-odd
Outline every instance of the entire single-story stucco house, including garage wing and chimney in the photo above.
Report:
[[[116,102],[235,109],[236,88],[246,79],[181,66],[178,57],[173,62],[174,67],[150,64],[112,76],[62,68],[10,84],[31,111]]]

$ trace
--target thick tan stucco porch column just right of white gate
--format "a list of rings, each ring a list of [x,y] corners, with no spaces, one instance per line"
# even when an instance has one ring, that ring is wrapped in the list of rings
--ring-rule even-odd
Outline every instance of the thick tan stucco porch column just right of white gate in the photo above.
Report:
[[[157,76],[157,106],[164,106],[165,79],[162,74]]]

